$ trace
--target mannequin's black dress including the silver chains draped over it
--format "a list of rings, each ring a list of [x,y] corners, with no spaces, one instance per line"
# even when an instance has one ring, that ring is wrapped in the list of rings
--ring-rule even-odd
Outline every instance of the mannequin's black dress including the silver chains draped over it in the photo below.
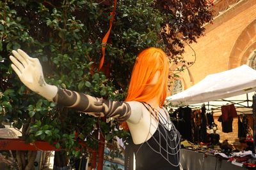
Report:
[[[180,134],[170,120],[168,124],[171,127],[170,131],[159,121],[156,132],[148,141],[139,145],[132,144],[136,158],[136,170],[180,169]]]

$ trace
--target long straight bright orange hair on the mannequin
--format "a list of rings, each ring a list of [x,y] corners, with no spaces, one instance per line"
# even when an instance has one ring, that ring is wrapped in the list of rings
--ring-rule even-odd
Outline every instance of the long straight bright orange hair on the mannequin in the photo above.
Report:
[[[158,81],[148,92],[147,87],[157,71],[160,71]],[[157,97],[159,106],[163,106],[167,94],[168,71],[168,57],[163,50],[154,47],[143,50],[134,64],[125,101],[146,102]],[[123,123],[122,127],[127,129],[127,124]]]

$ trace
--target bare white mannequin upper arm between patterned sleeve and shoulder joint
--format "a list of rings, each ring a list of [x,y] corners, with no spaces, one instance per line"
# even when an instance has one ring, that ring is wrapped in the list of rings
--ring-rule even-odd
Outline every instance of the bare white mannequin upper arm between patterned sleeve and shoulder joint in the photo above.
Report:
[[[128,103],[131,108],[131,116],[127,122],[131,124],[138,124],[143,114],[143,104],[138,101],[127,101],[126,103]]]

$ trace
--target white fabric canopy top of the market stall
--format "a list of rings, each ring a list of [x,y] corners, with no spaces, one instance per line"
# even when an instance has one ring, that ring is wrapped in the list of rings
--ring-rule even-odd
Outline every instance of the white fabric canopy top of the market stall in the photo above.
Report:
[[[204,103],[238,96],[256,90],[256,71],[243,65],[216,74],[209,74],[187,90],[167,97],[173,106]]]

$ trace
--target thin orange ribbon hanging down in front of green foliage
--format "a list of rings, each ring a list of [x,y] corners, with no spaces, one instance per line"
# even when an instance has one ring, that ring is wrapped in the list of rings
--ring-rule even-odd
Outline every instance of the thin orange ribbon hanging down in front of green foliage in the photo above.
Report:
[[[114,0],[114,7],[113,7],[113,11],[110,13],[110,15],[112,16],[109,20],[109,29],[108,29],[108,32],[105,34],[104,38],[102,39],[102,47],[101,47],[101,50],[102,50],[102,57],[100,59],[100,64],[99,64],[99,69],[100,70],[103,66],[103,63],[104,63],[104,58],[105,58],[105,49],[106,49],[106,43],[108,41],[108,37],[109,37],[109,34],[111,32],[111,28],[112,28],[112,24],[113,24],[113,21],[115,19],[115,10],[116,10],[116,0]]]

